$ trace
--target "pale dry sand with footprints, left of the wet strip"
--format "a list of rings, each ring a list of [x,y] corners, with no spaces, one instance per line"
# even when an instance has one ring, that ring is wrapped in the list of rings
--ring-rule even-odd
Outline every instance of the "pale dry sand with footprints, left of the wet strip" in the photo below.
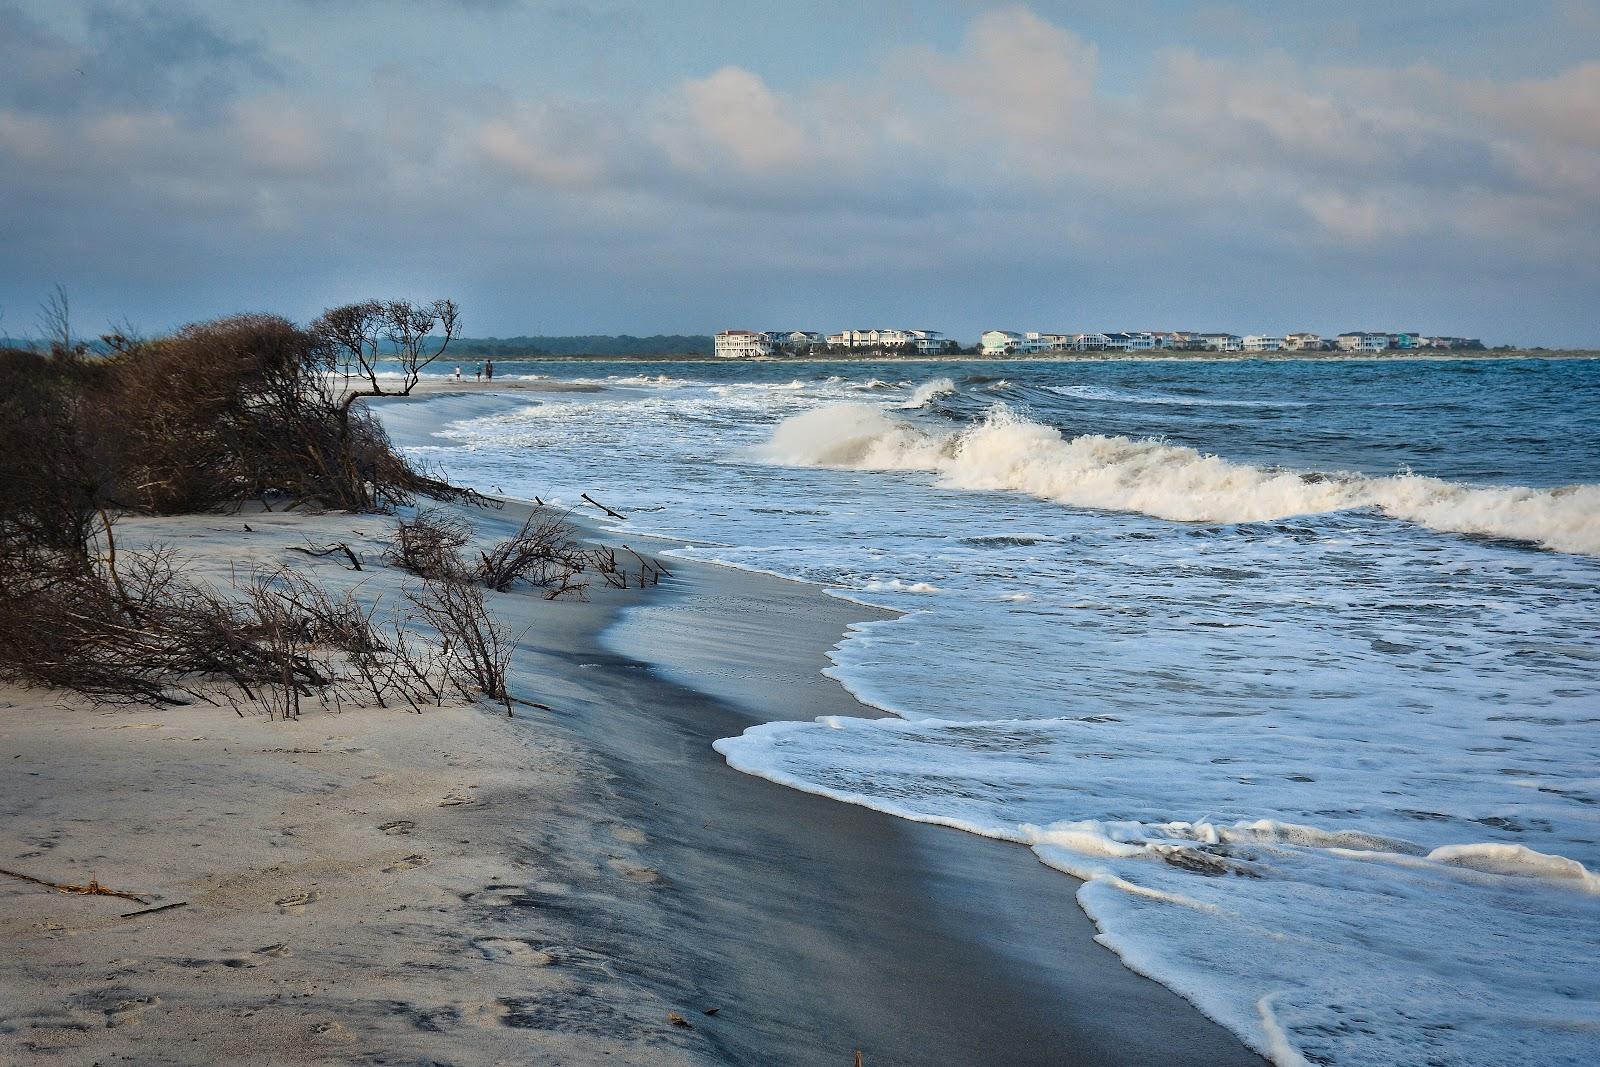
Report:
[[[496,525],[512,517],[496,517]],[[382,517],[130,520],[226,581],[299,560],[366,581]],[[245,533],[245,525],[251,533]],[[286,553],[347,541],[370,573]],[[515,601],[558,625],[592,605]],[[0,689],[0,1062],[702,1062],[571,902],[627,915],[656,873],[608,774],[498,709],[299,721],[94,709]],[[184,907],[126,917],[142,907]]]

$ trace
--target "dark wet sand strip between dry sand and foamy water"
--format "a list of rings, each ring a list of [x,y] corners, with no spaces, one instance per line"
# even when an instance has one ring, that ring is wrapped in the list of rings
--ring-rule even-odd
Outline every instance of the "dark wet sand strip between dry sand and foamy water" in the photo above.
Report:
[[[874,713],[818,673],[845,627],[874,613],[805,584],[674,569],[672,600],[634,627],[634,656],[570,633],[531,665],[546,685],[578,681],[554,701],[616,773],[618,817],[653,843],[662,947],[683,995],[717,1008],[694,1019],[715,1054],[1259,1067],[1096,944],[1078,883],[1029,851],[728,768],[710,742],[752,721]]]

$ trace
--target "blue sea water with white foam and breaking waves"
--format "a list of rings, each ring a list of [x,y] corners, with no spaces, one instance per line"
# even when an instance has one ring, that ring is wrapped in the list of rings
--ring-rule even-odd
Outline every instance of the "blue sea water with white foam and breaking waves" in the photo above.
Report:
[[[414,456],[902,613],[896,718],[734,768],[1030,848],[1278,1064],[1600,1062],[1600,363],[498,370],[594,392]]]

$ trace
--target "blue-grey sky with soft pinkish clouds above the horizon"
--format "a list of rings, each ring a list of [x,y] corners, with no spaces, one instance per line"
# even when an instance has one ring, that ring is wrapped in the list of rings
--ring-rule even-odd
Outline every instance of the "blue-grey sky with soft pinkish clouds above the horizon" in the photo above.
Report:
[[[0,0],[0,334],[1600,347],[1600,0]]]

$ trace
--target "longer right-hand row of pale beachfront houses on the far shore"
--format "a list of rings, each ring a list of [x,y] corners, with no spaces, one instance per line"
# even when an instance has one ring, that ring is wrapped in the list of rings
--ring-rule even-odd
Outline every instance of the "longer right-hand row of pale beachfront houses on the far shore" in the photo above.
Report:
[[[1475,338],[1430,338],[1416,333],[1352,331],[1334,338],[1315,333],[1235,334],[1192,333],[1187,330],[1141,330],[1133,333],[1018,333],[986,330],[982,355],[1035,355],[1042,352],[1390,352],[1482,349]]]

